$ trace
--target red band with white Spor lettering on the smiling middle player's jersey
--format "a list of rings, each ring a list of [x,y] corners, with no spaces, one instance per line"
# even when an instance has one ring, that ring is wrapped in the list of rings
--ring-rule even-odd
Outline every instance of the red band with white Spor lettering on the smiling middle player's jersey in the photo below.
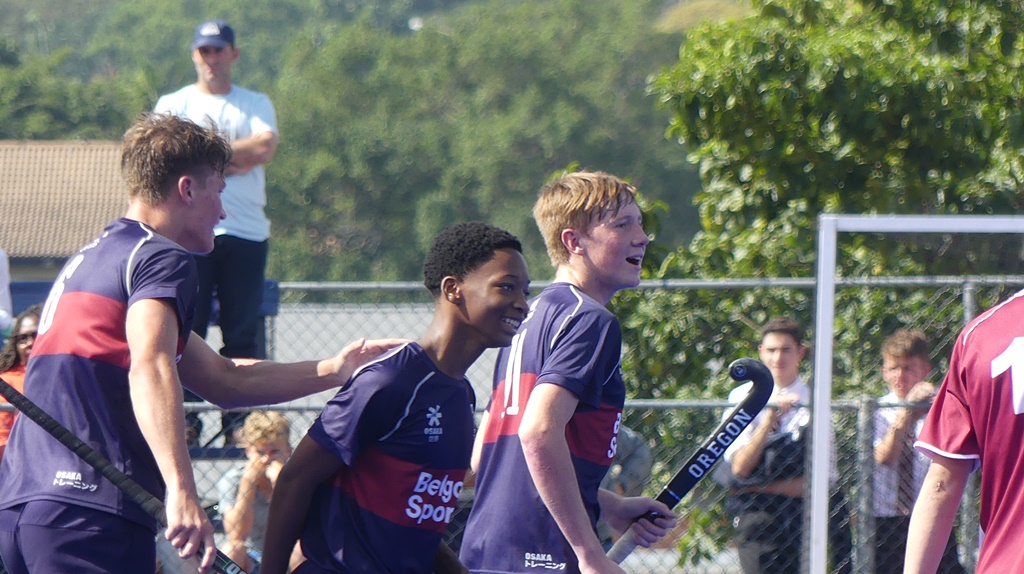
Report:
[[[424,469],[371,448],[335,477],[360,509],[406,528],[444,532],[459,502],[466,470]]]

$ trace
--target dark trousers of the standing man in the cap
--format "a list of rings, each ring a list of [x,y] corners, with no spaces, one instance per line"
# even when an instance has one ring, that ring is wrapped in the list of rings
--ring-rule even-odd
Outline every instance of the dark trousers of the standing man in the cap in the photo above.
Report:
[[[263,317],[259,306],[263,300],[267,241],[249,241],[230,235],[217,235],[213,251],[196,257],[199,267],[199,295],[196,301],[196,319],[193,330],[206,338],[207,326],[216,294],[219,307],[220,330],[224,346],[220,354],[225,357],[266,358],[263,337]],[[187,382],[183,382],[187,385]],[[185,391],[186,401],[199,401],[196,394]],[[242,427],[245,412],[221,413],[221,432],[225,444],[233,443],[232,434]],[[203,430],[199,415],[188,414],[187,426],[198,437]]]

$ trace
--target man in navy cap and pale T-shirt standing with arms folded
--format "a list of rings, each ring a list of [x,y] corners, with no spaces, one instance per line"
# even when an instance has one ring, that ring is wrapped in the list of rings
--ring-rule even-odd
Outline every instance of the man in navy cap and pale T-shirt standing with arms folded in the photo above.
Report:
[[[270,221],[263,212],[263,166],[278,150],[278,120],[270,98],[231,82],[231,67],[241,52],[234,45],[234,30],[227,23],[214,19],[200,24],[189,49],[196,64],[196,83],[162,96],[155,111],[214,128],[231,146],[222,194],[227,217],[214,228],[217,237],[213,251],[196,258],[200,279],[193,328],[206,338],[216,294],[224,342],[220,354],[262,359],[266,349],[259,306],[270,236]],[[200,399],[186,393],[185,400]],[[233,432],[242,426],[245,415],[221,413],[225,446],[233,444]],[[188,416],[188,427],[195,444],[202,432],[198,415]]]

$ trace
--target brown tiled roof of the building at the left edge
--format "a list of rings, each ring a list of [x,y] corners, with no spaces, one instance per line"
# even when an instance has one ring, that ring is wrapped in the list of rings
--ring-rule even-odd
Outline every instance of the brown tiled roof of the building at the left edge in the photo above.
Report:
[[[117,141],[0,140],[0,248],[63,259],[124,215]]]

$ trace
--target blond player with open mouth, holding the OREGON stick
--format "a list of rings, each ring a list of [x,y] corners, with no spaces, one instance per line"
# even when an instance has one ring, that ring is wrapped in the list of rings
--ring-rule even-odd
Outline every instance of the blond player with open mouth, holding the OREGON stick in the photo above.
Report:
[[[546,185],[534,218],[555,280],[530,301],[473,447],[476,492],[461,558],[471,572],[612,572],[600,516],[649,545],[675,524],[660,502],[599,488],[615,453],[626,387],[618,320],[605,306],[640,282],[650,239],[636,189],[601,172]]]

